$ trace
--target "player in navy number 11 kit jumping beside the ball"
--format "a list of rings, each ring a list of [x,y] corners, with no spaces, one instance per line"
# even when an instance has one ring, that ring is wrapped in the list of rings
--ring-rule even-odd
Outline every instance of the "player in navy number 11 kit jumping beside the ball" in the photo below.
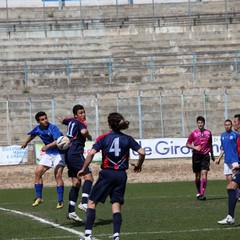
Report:
[[[67,136],[70,139],[70,147],[67,152],[68,176],[72,179],[72,187],[69,192],[69,206],[67,218],[80,222],[81,218],[75,212],[75,205],[78,199],[78,193],[81,187],[81,179],[77,178],[77,173],[83,167],[85,158],[83,156],[86,139],[92,140],[88,132],[85,109],[82,105],[77,104],[73,107],[71,118],[58,120],[68,126]],[[87,169],[82,186],[82,201],[79,204],[81,210],[87,210],[87,201],[92,188],[93,176],[90,168]]]

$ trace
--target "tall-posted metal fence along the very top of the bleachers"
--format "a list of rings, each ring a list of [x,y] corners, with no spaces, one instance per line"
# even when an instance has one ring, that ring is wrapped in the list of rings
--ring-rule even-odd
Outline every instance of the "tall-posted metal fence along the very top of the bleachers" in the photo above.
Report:
[[[112,1],[113,5],[100,8],[92,13],[89,6],[83,5],[82,0],[72,1],[75,8],[71,9],[71,14],[66,15],[64,9],[68,7],[71,1],[42,1],[42,6],[38,6],[31,14],[19,12],[10,4],[10,0],[2,3],[2,19],[0,17],[0,32],[22,32],[22,31],[49,31],[59,30],[87,30],[103,28],[129,28],[131,26],[145,26],[150,28],[185,26],[192,30],[193,26],[202,25],[224,25],[228,29],[229,24],[239,24],[240,7],[238,0],[222,1],[196,1],[188,0],[180,3],[170,2],[168,7],[164,1],[147,1],[146,11],[140,9],[141,13],[136,13],[139,9],[127,11],[126,4],[131,2]],[[25,1],[21,6],[30,7],[30,2]],[[213,6],[204,5],[205,3],[216,4],[216,9],[212,11]],[[49,6],[59,6],[59,10],[49,8]],[[110,3],[111,4],[111,3]],[[181,7],[176,8],[177,4]],[[33,5],[35,6],[35,5]],[[167,10],[166,10],[166,9]],[[56,8],[57,9],[57,8]],[[62,11],[62,12],[61,12]]]

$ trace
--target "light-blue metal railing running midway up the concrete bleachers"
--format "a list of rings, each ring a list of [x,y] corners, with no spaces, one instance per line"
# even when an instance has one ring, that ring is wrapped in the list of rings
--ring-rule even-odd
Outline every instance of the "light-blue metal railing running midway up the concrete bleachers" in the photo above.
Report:
[[[239,51],[200,51],[194,53],[159,53],[124,55],[123,57],[68,57],[68,58],[37,58],[0,60],[2,79],[11,81],[15,74],[17,81],[22,81],[25,87],[34,87],[34,82],[51,84],[50,79],[62,79],[71,86],[72,78],[87,79],[87,83],[119,83],[121,78],[131,82],[138,75],[139,81],[154,82],[165,77],[164,72],[171,72],[182,77],[190,76],[194,85],[199,78],[206,78],[211,72],[223,72],[225,78],[239,79]],[[136,75],[137,71],[137,75]],[[128,79],[124,74],[128,72]],[[132,72],[132,73],[131,73]],[[161,73],[163,72],[163,73]],[[121,74],[122,73],[122,74]],[[159,78],[159,79],[158,79]],[[219,78],[218,78],[219,79]],[[14,81],[14,80],[12,80]],[[64,83],[62,82],[62,83]]]

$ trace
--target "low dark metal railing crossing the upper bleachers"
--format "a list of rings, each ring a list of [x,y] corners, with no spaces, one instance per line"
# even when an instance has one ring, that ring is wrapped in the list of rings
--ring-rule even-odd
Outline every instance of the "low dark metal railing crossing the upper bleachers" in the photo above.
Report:
[[[222,13],[187,15],[155,16],[152,17],[119,17],[101,19],[8,19],[0,20],[0,32],[41,32],[41,31],[66,31],[66,30],[94,30],[105,28],[129,28],[134,27],[194,27],[204,25],[225,25],[240,23],[240,12],[228,12],[227,17]]]

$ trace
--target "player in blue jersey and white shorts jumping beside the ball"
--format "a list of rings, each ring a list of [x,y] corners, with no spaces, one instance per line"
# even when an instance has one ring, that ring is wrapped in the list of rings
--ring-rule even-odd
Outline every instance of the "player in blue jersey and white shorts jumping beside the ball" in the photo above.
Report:
[[[22,148],[25,148],[36,136],[40,137],[44,143],[44,146],[41,149],[44,154],[42,155],[35,170],[36,199],[34,200],[32,206],[38,206],[43,201],[43,175],[47,170],[53,167],[54,176],[57,182],[57,209],[61,209],[63,208],[64,182],[62,179],[62,173],[65,167],[65,155],[63,151],[57,148],[56,141],[58,137],[62,136],[62,133],[57,126],[48,121],[48,117],[45,112],[38,112],[35,115],[35,119],[39,125],[28,133],[28,138],[22,144]]]

